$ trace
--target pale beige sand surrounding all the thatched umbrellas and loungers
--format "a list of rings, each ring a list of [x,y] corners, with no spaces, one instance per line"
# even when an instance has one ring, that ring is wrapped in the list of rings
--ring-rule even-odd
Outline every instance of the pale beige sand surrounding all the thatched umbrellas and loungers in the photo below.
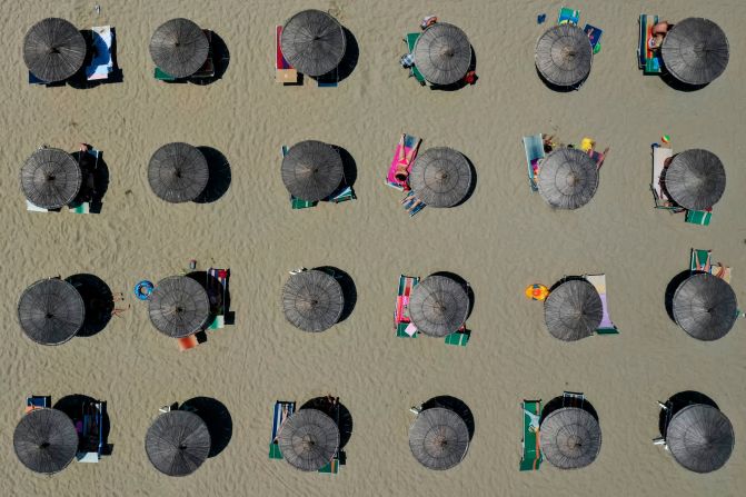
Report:
[[[554,22],[557,1],[400,2],[300,0],[38,0],[6,6],[0,61],[6,235],[0,301],[0,489],[34,496],[738,496],[746,485],[746,320],[714,342],[693,339],[666,314],[669,281],[688,269],[690,248],[712,249],[733,267],[746,306],[746,220],[742,205],[746,145],[746,3],[719,0],[576,1],[585,22],[604,29],[579,91],[558,93],[537,77],[536,39]],[[352,33],[359,59],[338,88],[275,82],[273,28],[318,8]],[[547,22],[537,24],[546,12]],[[677,91],[637,69],[640,12],[677,21],[706,17],[726,32],[730,60],[704,89]],[[431,91],[399,66],[402,36],[436,13],[469,37],[479,79],[458,91]],[[79,29],[111,24],[123,81],[79,90],[27,85],[26,31],[47,17]],[[222,78],[208,86],[152,78],[148,42],[162,22],[185,17],[211,29],[229,50]],[[473,196],[450,209],[409,218],[402,195],[384,183],[401,132],[422,150],[451,147],[477,172]],[[594,199],[553,210],[529,190],[521,137],[594,137],[611,150]],[[708,149],[725,165],[727,187],[710,226],[654,209],[650,143],[672,137],[677,151]],[[280,147],[315,139],[346,149],[357,170],[357,200],[291,210],[280,177]],[[103,151],[110,175],[101,213],[26,210],[19,171],[42,143],[79,142]],[[230,165],[231,182],[215,202],[157,198],[147,178],[156,149],[171,141],[211,147]],[[200,268],[230,268],[235,325],[179,352],[132,295],[142,279]],[[334,266],[355,281],[351,315],[321,334],[288,324],[280,291],[288,270]],[[451,271],[471,286],[467,347],[442,339],[398,339],[391,315],[400,274]],[[618,336],[566,344],[545,326],[527,285],[605,272]],[[59,347],[23,336],[18,298],[33,281],[92,274],[131,308],[93,337]],[[583,391],[598,412],[603,446],[576,471],[546,464],[518,471],[523,399]],[[736,436],[729,461],[698,475],[651,439],[657,400],[682,390],[713,398]],[[349,409],[354,434],[336,476],[302,473],[267,457],[278,399],[302,404],[331,392]],[[84,394],[108,401],[113,453],[98,465],[71,464],[42,477],[13,454],[12,434],[28,395]],[[431,471],[411,456],[409,407],[438,395],[466,402],[475,434],[465,460]],[[232,437],[193,475],[169,478],[148,461],[145,434],[158,408],[197,396],[229,409]],[[738,490],[742,488],[742,490]]]

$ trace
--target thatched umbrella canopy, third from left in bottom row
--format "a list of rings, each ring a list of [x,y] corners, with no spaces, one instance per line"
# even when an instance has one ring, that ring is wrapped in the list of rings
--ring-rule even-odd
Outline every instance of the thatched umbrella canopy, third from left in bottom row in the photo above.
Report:
[[[300,409],[286,419],[277,441],[290,466],[318,471],[339,449],[339,428],[320,410]]]

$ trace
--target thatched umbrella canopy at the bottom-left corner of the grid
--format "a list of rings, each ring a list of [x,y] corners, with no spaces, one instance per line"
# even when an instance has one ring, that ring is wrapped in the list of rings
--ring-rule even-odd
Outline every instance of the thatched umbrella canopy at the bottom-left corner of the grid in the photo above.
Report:
[[[78,431],[72,420],[57,409],[33,409],[13,433],[18,459],[34,473],[61,471],[76,457]]]

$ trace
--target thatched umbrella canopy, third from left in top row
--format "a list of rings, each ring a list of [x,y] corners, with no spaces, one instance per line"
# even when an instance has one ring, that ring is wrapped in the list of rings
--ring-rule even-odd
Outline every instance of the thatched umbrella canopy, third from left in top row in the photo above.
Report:
[[[302,10],[285,23],[280,48],[285,59],[308,76],[322,76],[345,57],[347,40],[341,24],[320,10]]]

